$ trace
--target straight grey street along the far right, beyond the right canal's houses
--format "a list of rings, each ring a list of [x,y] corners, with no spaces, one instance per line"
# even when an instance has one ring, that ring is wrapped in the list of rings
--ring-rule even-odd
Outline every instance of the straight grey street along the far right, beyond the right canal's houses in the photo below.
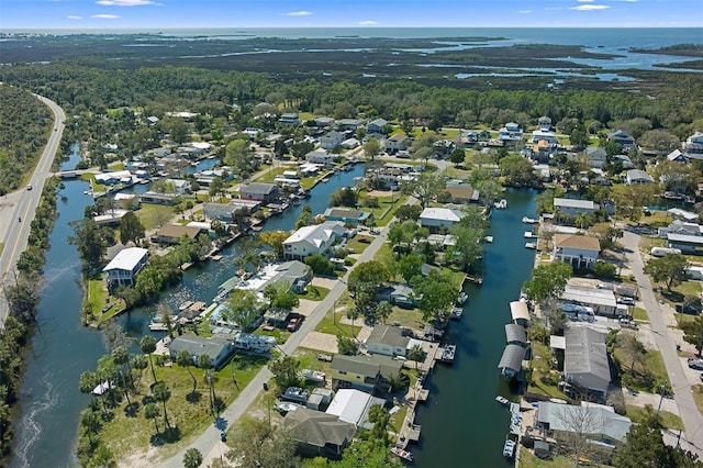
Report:
[[[685,433],[681,437],[681,447],[703,457],[703,415],[701,415],[693,401],[691,383],[683,370],[676,344],[669,334],[669,328],[665,324],[661,308],[651,289],[649,277],[643,272],[644,264],[638,248],[639,236],[625,231],[623,244],[631,250],[627,254],[627,261],[635,275],[637,286],[639,286],[640,297],[649,316],[655,343],[667,367],[667,374],[674,392],[673,398],[679,406],[679,414],[685,427]]]

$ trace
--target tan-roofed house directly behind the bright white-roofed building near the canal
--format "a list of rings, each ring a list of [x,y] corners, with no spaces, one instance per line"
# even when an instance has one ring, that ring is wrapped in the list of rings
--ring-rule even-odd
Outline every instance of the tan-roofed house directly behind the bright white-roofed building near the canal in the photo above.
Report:
[[[398,376],[403,363],[386,356],[335,355],[330,365],[333,389],[355,388],[368,393],[390,391],[390,378]]]

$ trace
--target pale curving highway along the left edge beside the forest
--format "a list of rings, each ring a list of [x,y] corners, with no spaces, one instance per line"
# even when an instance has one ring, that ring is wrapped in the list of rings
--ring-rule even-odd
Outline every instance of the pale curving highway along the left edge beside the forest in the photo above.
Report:
[[[36,94],[34,94],[36,96]],[[26,247],[30,235],[30,223],[34,219],[34,212],[42,198],[44,181],[51,176],[51,168],[58,151],[58,145],[64,133],[64,121],[66,115],[58,104],[49,99],[36,96],[54,113],[54,127],[48,137],[44,153],[38,160],[34,174],[29,183],[33,187],[27,190],[25,187],[14,193],[8,194],[3,210],[0,211],[0,224],[4,225],[4,235],[0,232],[0,242],[4,243],[4,248],[0,254],[0,328],[4,327],[8,317],[8,302],[2,294],[2,288],[8,279],[8,274],[16,265],[20,254]],[[21,222],[19,220],[22,220]]]

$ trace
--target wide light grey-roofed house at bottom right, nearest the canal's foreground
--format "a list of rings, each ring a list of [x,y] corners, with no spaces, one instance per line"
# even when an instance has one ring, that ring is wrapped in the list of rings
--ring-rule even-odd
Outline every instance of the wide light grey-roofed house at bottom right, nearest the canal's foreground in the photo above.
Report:
[[[587,401],[580,405],[540,401],[537,405],[537,426],[557,438],[561,438],[560,433],[570,437],[570,433],[578,431],[579,437],[585,435],[612,446],[625,442],[632,424],[629,417],[615,413],[614,408]]]

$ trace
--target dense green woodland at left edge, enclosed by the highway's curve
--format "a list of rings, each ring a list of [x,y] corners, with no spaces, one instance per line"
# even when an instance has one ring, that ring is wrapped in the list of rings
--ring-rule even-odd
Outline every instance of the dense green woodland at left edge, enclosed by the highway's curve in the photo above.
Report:
[[[52,113],[29,91],[0,86],[0,196],[20,187],[38,158]]]

